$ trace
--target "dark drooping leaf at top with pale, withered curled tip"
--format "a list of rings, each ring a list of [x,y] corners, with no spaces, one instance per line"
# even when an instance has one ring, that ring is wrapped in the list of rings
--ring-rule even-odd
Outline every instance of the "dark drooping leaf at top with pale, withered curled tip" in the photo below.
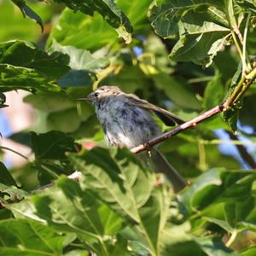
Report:
[[[131,22],[113,0],[90,0],[86,3],[74,0],[55,0],[55,2],[65,3],[67,7],[73,9],[73,11],[79,10],[80,12],[90,16],[92,16],[95,11],[98,12],[110,26],[115,28],[119,37],[124,38],[126,44],[131,43]]]

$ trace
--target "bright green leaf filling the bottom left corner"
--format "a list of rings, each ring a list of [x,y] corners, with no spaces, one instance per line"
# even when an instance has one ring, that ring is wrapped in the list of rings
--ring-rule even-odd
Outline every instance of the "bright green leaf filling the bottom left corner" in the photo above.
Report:
[[[0,221],[0,255],[61,255],[65,236],[29,219]]]

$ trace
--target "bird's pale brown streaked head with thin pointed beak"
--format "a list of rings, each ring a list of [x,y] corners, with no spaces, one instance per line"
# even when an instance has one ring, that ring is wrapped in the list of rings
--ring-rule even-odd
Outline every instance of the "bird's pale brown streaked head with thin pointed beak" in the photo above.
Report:
[[[96,103],[101,100],[108,100],[109,97],[111,96],[117,96],[120,93],[122,93],[121,90],[117,86],[108,86],[108,85],[103,85],[93,92],[91,92],[87,97],[85,98],[79,98],[79,101],[86,101],[86,102],[91,102],[91,103]]]

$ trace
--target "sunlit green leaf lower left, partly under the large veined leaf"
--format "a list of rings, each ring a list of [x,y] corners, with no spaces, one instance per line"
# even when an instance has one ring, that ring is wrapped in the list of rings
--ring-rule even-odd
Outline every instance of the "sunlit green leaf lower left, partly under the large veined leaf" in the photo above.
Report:
[[[30,200],[33,214],[46,220],[55,230],[75,233],[98,255],[106,253],[108,239],[121,228],[122,220],[107,205],[67,177],[60,177],[54,188],[45,189]],[[27,201],[15,208],[26,209],[22,207],[24,204],[27,205]]]

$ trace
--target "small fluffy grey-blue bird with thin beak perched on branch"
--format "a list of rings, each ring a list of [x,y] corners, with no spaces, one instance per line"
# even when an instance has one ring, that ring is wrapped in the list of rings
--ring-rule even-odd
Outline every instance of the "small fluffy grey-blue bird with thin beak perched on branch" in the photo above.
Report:
[[[80,101],[91,102],[102,125],[106,143],[110,146],[134,148],[159,136],[156,114],[166,125],[183,124],[177,115],[159,108],[136,95],[126,94],[117,86],[104,85]],[[152,160],[157,172],[164,172],[172,182],[175,192],[183,189],[186,182],[157,148],[152,150]]]

